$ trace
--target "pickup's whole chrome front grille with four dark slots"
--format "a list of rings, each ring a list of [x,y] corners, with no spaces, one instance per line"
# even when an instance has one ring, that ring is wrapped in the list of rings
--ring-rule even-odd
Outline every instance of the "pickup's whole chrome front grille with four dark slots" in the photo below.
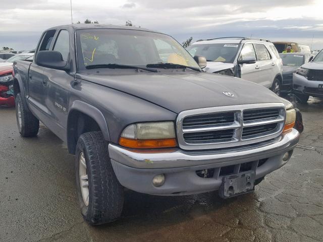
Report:
[[[285,124],[283,103],[209,107],[179,113],[177,138],[184,150],[249,145],[278,137]]]

